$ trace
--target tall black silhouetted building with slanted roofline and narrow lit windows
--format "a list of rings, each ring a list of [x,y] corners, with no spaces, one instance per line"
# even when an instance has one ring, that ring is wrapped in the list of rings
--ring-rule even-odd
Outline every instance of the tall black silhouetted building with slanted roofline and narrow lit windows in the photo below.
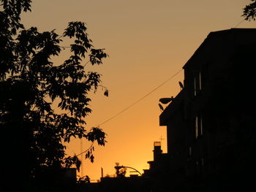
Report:
[[[173,190],[252,186],[255,37],[255,28],[211,32],[184,65],[184,88],[159,117],[167,126]]]

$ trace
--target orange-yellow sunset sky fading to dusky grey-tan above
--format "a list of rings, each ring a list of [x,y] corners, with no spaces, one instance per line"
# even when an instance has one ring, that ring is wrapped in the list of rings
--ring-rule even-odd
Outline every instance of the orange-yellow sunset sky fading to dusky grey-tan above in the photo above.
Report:
[[[94,47],[105,48],[110,55],[102,66],[103,91],[91,94],[93,112],[87,118],[88,129],[98,126],[157,88],[192,56],[211,31],[234,28],[243,20],[242,8],[249,0],[34,0],[32,12],[23,15],[26,27],[39,31],[56,29],[62,34],[69,21],[87,23]],[[244,21],[238,28],[255,28],[255,22]],[[69,42],[62,42],[69,46]],[[69,50],[54,58],[60,63]],[[86,63],[86,60],[84,61]],[[89,67],[91,70],[92,68]],[[115,163],[132,166],[143,172],[153,159],[153,142],[162,140],[166,152],[166,128],[159,127],[158,101],[176,96],[184,72],[151,93],[118,117],[100,126],[107,134],[105,147],[95,147],[95,161],[83,160],[83,175],[92,180],[114,174]],[[83,140],[83,150],[89,143]],[[67,153],[80,153],[80,140],[69,143]],[[80,175],[80,173],[78,173]],[[129,172],[128,172],[129,175]]]

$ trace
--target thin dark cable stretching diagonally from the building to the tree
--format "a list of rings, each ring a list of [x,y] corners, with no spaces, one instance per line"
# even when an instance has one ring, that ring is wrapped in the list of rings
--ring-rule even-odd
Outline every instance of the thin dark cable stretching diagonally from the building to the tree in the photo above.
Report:
[[[145,99],[147,96],[149,96],[151,93],[153,93],[154,91],[157,91],[158,88],[162,87],[162,85],[165,85],[165,83],[167,83],[168,81],[170,81],[171,79],[173,79],[173,77],[176,77],[177,74],[179,74],[183,69],[179,70],[178,72],[176,72],[176,74],[173,74],[171,77],[169,77],[167,80],[165,80],[164,82],[162,82],[160,85],[157,86],[157,88],[154,88],[152,91],[148,92],[145,96],[143,96],[142,98],[138,99],[137,101],[135,101],[134,103],[130,104],[128,107],[124,108],[124,110],[121,110],[120,112],[118,112],[116,115],[113,115],[113,117],[108,118],[108,120],[105,120],[103,123],[99,124],[99,126],[102,126],[103,124],[107,123],[110,120],[113,120],[113,118],[116,118],[118,115],[121,115],[121,113],[129,110],[129,108],[135,106],[135,104],[138,104],[138,102],[142,101],[143,99]]]

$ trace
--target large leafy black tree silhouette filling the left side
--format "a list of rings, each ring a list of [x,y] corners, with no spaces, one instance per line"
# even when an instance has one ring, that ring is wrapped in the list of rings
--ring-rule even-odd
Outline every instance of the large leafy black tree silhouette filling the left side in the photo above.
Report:
[[[85,23],[70,22],[61,36],[54,30],[26,29],[20,14],[31,11],[31,0],[0,3],[1,174],[10,178],[16,173],[18,180],[30,182],[45,170],[79,168],[77,156],[66,156],[64,142],[83,137],[105,145],[102,129],[85,128],[84,118],[91,113],[88,93],[101,86],[101,75],[86,72],[83,58],[99,65],[108,55],[94,49]],[[53,64],[64,37],[74,39],[71,55]],[[92,150],[86,153],[91,161]]]

